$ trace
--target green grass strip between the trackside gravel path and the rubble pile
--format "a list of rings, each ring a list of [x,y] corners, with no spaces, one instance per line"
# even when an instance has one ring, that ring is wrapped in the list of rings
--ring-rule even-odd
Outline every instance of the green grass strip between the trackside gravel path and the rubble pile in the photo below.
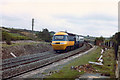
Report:
[[[96,58],[100,56],[101,48],[98,47],[96,50],[91,51],[89,54],[83,55],[80,58],[75,59],[70,64],[66,65],[61,69],[58,73],[54,73],[51,76],[47,76],[46,78],[76,78],[85,72],[78,72],[76,70],[71,70],[71,66],[78,66],[88,64],[88,61],[96,61]]]

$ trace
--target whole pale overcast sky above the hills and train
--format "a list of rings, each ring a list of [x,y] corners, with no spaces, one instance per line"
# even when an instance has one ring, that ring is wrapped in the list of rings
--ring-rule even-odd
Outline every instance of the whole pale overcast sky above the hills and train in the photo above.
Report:
[[[111,37],[118,31],[118,0],[0,0],[0,26]]]

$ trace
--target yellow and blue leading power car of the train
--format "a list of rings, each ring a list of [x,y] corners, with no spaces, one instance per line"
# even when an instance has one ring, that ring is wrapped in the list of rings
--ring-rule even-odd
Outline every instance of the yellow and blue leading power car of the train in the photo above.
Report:
[[[55,51],[66,50],[69,46],[74,45],[74,39],[72,39],[65,32],[58,32],[54,34],[52,40],[52,47]]]

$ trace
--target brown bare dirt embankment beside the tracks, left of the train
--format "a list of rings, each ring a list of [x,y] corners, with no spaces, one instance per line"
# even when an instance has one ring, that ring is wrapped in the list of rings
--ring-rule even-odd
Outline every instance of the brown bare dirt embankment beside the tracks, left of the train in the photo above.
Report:
[[[16,56],[30,55],[36,53],[42,53],[52,49],[50,44],[37,43],[37,44],[27,44],[27,45],[16,45],[10,47],[2,47],[2,59],[13,58],[10,54],[11,52]]]

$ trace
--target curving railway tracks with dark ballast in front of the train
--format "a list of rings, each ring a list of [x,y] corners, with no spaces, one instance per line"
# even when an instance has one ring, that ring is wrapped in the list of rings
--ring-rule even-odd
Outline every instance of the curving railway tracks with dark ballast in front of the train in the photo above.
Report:
[[[50,51],[29,56],[6,59],[2,61],[2,77],[3,79],[9,79],[25,72],[40,68],[58,60],[86,51],[89,48],[90,45],[84,44],[81,48],[62,54],[56,54],[56,52]]]

